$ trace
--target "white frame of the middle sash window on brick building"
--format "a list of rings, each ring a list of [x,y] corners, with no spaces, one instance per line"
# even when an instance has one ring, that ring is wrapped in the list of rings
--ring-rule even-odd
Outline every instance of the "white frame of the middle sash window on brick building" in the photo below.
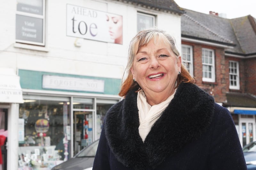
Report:
[[[208,51],[208,52],[212,52],[212,64],[210,63],[203,63],[203,51]],[[206,66],[210,66],[212,69],[211,69],[211,72],[212,72],[212,78],[207,78],[207,77],[204,77],[204,65]],[[202,48],[202,80],[204,82],[215,82],[215,55],[214,55],[214,50],[212,49],[209,49],[209,48]]]

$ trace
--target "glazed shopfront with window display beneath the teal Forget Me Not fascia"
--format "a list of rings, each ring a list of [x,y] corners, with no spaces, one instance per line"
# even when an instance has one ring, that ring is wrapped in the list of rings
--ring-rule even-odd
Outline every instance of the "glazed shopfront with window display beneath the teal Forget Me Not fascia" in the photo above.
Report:
[[[75,155],[99,139],[108,109],[119,101],[33,95],[23,98],[19,113],[19,170],[50,170],[70,159],[71,150]]]

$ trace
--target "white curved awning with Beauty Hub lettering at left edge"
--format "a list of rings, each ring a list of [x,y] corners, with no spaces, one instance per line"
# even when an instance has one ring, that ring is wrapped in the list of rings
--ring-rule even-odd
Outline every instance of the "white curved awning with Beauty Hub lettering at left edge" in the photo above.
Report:
[[[23,103],[20,77],[0,75],[0,102]]]

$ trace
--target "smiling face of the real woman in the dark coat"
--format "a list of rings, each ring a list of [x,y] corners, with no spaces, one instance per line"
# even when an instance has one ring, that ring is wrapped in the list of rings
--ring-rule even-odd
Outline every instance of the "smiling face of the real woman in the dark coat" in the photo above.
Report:
[[[138,42],[135,45],[135,51],[137,50]],[[166,100],[174,92],[180,67],[181,57],[177,59],[169,45],[163,41],[154,44],[150,40],[135,54],[131,72],[147,98],[157,95]]]

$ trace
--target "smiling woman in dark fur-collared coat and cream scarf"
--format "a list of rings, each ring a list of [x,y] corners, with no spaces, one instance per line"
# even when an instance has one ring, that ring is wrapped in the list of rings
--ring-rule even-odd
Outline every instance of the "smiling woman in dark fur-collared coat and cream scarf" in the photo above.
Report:
[[[194,84],[169,33],[139,32],[128,57],[93,169],[246,169],[230,112]]]

